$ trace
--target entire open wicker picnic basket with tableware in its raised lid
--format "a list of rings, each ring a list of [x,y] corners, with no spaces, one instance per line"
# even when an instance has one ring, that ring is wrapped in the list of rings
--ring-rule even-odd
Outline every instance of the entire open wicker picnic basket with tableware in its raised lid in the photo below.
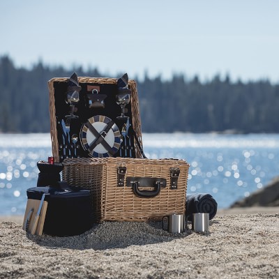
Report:
[[[74,73],[48,87],[54,161],[70,187],[90,191],[93,222],[185,213],[189,165],[144,155],[134,80]]]

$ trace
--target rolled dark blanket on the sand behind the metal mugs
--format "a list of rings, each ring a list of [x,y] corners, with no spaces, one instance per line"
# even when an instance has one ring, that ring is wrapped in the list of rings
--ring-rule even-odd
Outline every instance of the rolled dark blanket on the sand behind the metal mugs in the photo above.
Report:
[[[193,213],[209,213],[209,220],[216,216],[217,202],[209,194],[189,194],[186,195],[186,216],[192,220]]]

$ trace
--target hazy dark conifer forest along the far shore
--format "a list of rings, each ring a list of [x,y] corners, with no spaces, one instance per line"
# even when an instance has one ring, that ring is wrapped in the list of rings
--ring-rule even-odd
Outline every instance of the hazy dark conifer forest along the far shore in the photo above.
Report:
[[[31,69],[16,68],[10,57],[1,56],[0,133],[50,132],[47,81],[73,72],[107,77],[96,68],[66,70],[40,61]],[[173,75],[164,81],[145,75],[137,90],[145,133],[279,133],[279,84],[269,80],[232,82],[216,75],[201,82],[197,76]]]

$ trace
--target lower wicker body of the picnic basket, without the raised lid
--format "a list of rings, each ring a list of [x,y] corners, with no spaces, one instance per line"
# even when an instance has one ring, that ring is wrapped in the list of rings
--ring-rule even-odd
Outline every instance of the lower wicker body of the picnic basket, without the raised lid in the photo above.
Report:
[[[95,221],[162,220],[171,213],[185,213],[185,160],[71,158],[63,165],[64,181],[91,191]]]

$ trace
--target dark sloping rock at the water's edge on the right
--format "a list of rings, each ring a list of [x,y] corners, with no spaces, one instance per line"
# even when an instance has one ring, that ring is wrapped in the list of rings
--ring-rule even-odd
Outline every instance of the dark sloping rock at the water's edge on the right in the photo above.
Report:
[[[257,190],[249,197],[235,202],[230,207],[248,206],[279,206],[279,176],[273,179],[266,187]]]

